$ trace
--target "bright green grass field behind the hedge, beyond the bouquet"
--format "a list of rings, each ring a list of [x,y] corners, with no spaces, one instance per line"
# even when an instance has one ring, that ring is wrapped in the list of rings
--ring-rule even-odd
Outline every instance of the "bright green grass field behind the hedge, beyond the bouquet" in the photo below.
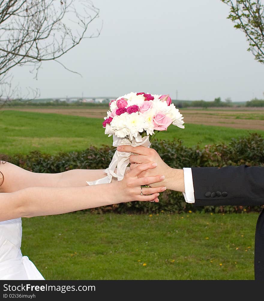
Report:
[[[186,124],[185,129],[170,126],[168,131],[159,132],[157,139],[180,138],[186,146],[197,143],[203,146],[222,141],[228,143],[231,138],[249,132],[264,135],[264,131]],[[99,118],[20,111],[0,111],[0,135],[0,153],[8,155],[28,154],[33,150],[55,154],[113,142],[104,134]]]

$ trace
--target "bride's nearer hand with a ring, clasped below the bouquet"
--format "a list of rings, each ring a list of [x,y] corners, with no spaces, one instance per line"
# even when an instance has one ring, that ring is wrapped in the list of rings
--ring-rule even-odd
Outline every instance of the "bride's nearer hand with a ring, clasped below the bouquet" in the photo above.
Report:
[[[148,169],[154,169],[157,166],[156,163],[148,162],[138,165],[132,170],[128,170],[122,181],[117,182],[118,193],[120,194],[122,202],[130,201],[152,201],[158,202],[159,193],[166,190],[162,184],[159,187],[143,187],[141,194],[141,185],[150,185],[152,183],[162,182],[164,180],[163,175],[155,175],[149,177],[138,178],[141,172]]]

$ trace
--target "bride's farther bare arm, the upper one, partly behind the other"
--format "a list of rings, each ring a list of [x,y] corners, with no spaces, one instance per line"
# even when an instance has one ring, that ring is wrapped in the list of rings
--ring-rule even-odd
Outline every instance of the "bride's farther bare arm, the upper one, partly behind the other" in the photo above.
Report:
[[[94,181],[106,176],[103,169],[73,169],[61,173],[36,173],[27,171],[12,163],[0,164],[0,192],[14,192],[27,187],[77,187],[86,186],[86,181]]]

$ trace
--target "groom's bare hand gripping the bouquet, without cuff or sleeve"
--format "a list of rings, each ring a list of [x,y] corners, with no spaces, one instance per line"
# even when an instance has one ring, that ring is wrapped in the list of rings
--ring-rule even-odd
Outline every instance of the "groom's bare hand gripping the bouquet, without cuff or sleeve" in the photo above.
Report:
[[[144,146],[133,147],[130,145],[121,145],[117,147],[118,151],[123,151],[127,153],[133,153],[135,155],[131,155],[129,158],[130,161],[130,169],[134,169],[138,166],[138,164],[155,162],[157,163],[157,167],[154,169],[148,169],[144,172],[141,172],[138,175],[138,178],[142,177],[150,177],[155,175],[164,175],[165,179],[163,181],[163,185],[168,187],[170,186],[169,182],[173,181],[173,169],[170,168],[163,160],[160,158],[159,154],[153,149]],[[154,183],[150,185],[151,187],[158,187],[160,183]]]

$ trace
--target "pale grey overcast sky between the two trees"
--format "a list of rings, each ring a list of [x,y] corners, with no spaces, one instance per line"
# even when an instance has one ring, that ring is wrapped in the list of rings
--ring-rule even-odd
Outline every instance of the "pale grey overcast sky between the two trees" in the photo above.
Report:
[[[33,79],[13,70],[14,83],[39,88],[41,98],[118,97],[129,92],[170,94],[182,100],[263,98],[264,65],[247,51],[245,34],[226,19],[220,0],[94,0],[100,18],[85,39],[61,58],[76,72],[46,62]]]

